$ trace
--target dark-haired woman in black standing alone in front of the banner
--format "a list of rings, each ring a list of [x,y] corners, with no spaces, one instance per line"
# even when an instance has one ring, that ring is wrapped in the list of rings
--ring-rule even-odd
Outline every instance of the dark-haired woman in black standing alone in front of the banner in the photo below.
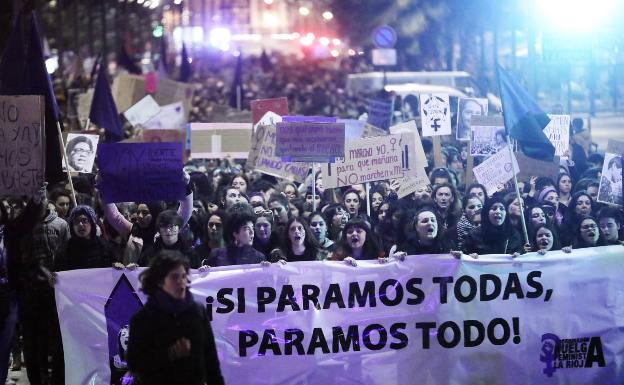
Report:
[[[137,384],[224,384],[206,310],[188,289],[188,260],[163,250],[139,276],[148,299],[132,316],[128,366]]]

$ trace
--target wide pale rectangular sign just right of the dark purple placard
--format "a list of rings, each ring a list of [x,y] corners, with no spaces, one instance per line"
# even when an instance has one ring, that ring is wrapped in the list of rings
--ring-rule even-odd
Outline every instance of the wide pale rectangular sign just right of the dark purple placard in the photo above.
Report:
[[[243,159],[251,148],[251,123],[191,123],[191,158]]]

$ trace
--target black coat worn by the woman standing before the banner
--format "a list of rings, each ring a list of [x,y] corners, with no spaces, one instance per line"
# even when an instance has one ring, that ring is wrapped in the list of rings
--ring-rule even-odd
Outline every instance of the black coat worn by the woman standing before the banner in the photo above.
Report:
[[[191,354],[171,359],[180,338],[191,341]],[[150,296],[130,321],[128,367],[136,385],[224,384],[206,310],[194,302],[176,311]]]

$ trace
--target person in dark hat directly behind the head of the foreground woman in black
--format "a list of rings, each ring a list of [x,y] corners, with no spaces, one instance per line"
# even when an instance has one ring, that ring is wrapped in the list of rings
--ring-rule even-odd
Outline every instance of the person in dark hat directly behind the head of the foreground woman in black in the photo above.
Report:
[[[154,243],[141,251],[139,266],[148,266],[161,250],[177,250],[188,258],[192,268],[198,268],[200,263],[193,248],[183,237],[180,237],[182,223],[182,217],[174,210],[165,210],[158,214],[156,218],[157,238]]]

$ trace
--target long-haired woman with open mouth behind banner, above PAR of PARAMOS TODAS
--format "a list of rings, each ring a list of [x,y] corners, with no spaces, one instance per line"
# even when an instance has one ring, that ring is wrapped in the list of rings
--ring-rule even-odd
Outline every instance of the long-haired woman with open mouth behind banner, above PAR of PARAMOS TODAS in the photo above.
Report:
[[[290,218],[286,232],[280,247],[271,252],[271,262],[322,261],[327,258],[327,251],[321,248],[305,221]]]

